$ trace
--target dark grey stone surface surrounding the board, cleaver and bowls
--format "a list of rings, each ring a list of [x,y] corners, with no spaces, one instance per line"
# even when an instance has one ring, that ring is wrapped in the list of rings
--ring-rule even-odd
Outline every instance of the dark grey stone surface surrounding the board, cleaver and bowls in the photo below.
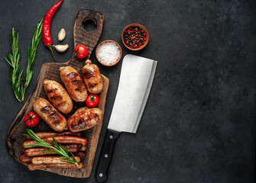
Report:
[[[96,160],[90,178],[67,178],[49,172],[30,172],[5,148],[8,127],[21,110],[11,93],[8,64],[11,27],[20,30],[22,67],[33,30],[57,1],[1,1],[0,5],[0,182],[96,182],[99,152],[118,88],[122,62],[107,68],[91,59],[110,79],[109,95]],[[158,61],[151,95],[137,134],[122,133],[116,142],[108,182],[254,182],[255,148],[255,1],[68,1],[55,14],[51,33],[66,29],[66,53],[73,52],[76,13],[94,9],[105,16],[99,41],[117,41],[123,56],[132,53]],[[150,42],[132,52],[122,45],[125,26],[147,27]],[[34,87],[50,51],[40,44]],[[28,98],[27,95],[27,98]],[[27,99],[26,98],[26,99]]]

